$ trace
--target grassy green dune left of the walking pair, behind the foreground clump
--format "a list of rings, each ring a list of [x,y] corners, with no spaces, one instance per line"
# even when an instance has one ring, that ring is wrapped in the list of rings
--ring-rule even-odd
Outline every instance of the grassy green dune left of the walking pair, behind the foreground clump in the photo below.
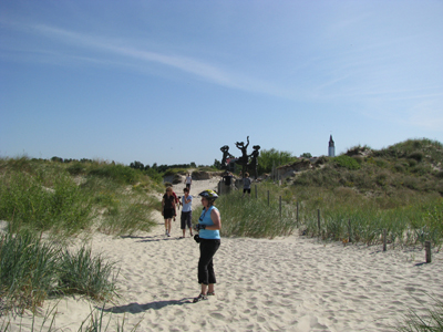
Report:
[[[0,220],[66,239],[99,229],[110,235],[148,231],[162,186],[144,172],[104,162],[61,164],[0,159]]]

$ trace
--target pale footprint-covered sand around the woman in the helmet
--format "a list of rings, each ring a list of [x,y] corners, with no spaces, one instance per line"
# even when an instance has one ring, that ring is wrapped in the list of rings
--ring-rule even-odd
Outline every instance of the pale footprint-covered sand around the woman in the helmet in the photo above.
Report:
[[[192,195],[216,183],[194,181]],[[176,190],[181,193],[179,186]],[[190,237],[179,239],[178,220],[166,238],[159,214],[156,218],[151,234],[97,234],[91,242],[121,268],[122,298],[105,307],[106,323],[113,312],[111,325],[125,317],[127,331],[135,324],[137,331],[392,331],[409,308],[420,312],[432,302],[425,292],[443,298],[441,252],[433,252],[433,262],[426,264],[421,249],[383,252],[381,247],[323,245],[291,236],[223,238],[215,256],[216,295],[194,304],[198,245]],[[55,303],[47,301],[44,308]],[[97,305],[64,298],[56,326],[78,331],[91,307]],[[19,320],[13,323],[12,331],[18,331]],[[30,324],[24,318],[22,325]]]

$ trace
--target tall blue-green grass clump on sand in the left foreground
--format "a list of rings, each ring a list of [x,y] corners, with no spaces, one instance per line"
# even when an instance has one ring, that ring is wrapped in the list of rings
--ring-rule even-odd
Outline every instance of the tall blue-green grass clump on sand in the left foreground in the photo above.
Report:
[[[0,236],[0,298],[3,311],[35,311],[50,297],[69,293],[107,300],[116,295],[114,262],[91,249],[62,250],[34,232]]]

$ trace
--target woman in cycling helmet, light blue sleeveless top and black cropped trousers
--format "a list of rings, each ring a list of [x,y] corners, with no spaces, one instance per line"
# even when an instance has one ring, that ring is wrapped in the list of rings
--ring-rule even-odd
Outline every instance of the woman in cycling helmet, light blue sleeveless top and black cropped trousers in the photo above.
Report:
[[[198,260],[198,283],[202,286],[200,293],[194,299],[194,303],[207,300],[208,295],[215,295],[214,286],[216,278],[214,273],[214,255],[220,247],[220,212],[214,206],[218,195],[214,190],[204,190],[202,196],[203,211],[196,225],[200,243],[200,258]]]

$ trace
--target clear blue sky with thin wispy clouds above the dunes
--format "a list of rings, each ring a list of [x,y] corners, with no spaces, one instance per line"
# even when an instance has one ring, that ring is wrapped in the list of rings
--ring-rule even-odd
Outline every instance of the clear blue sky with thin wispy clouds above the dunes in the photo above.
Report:
[[[442,18],[440,0],[0,0],[0,157],[443,142]]]

